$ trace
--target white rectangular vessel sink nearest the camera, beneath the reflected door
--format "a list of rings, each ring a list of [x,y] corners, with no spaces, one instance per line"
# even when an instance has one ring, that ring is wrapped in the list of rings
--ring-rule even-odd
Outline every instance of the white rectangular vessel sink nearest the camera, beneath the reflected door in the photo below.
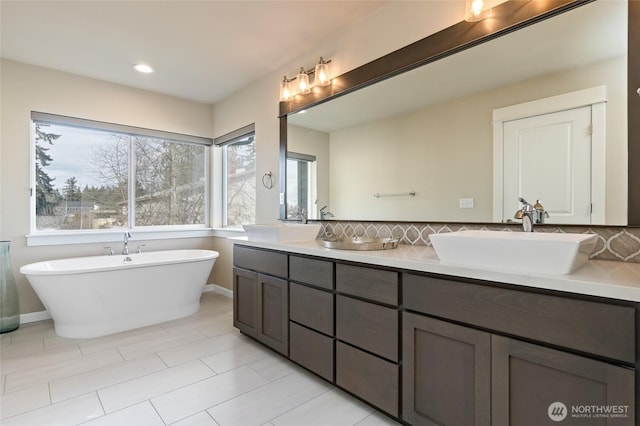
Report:
[[[429,235],[442,263],[513,272],[570,274],[589,260],[593,234],[459,231]]]

